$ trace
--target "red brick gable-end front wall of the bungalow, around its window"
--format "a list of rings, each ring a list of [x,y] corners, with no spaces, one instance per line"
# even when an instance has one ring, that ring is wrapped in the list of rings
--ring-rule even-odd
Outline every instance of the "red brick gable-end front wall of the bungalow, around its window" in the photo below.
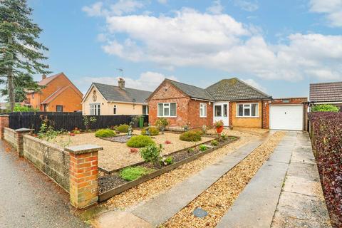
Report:
[[[149,121],[151,125],[157,120],[158,103],[177,103],[177,118],[167,118],[169,127],[181,127],[190,122],[189,103],[190,97],[177,90],[170,83],[162,83],[148,101]]]

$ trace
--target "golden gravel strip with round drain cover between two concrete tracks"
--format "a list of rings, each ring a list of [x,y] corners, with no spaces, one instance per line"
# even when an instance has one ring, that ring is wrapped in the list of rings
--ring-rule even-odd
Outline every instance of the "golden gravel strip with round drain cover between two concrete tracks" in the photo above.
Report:
[[[216,227],[219,219],[232,206],[239,193],[244,190],[261,165],[270,157],[285,134],[276,132],[271,135],[266,142],[257,147],[236,167],[169,219],[163,227]],[[197,207],[207,211],[207,217],[195,217],[192,212]]]

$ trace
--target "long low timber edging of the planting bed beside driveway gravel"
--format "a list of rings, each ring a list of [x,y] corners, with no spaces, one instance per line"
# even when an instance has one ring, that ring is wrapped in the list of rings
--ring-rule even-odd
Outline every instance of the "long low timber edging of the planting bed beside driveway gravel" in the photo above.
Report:
[[[236,137],[236,136],[234,136]],[[213,139],[214,140],[214,139]],[[177,167],[180,167],[180,165],[183,165],[185,163],[188,163],[188,162],[191,162],[193,160],[196,160],[197,158],[199,157],[202,157],[203,155],[206,155],[208,154],[209,152],[213,152],[214,150],[217,150],[219,148],[222,148],[224,147],[225,145],[228,145],[236,140],[239,140],[239,137],[236,137],[234,140],[232,141],[228,141],[228,142],[224,142],[222,145],[218,145],[216,147],[212,147],[208,150],[205,150],[204,152],[199,152],[198,154],[196,155],[193,155],[191,157],[187,157],[185,158],[184,160],[180,160],[179,162],[175,162],[173,163],[172,165],[167,165],[166,167],[163,167],[161,168],[160,170],[157,170],[155,172],[152,172],[148,175],[145,175],[143,177],[140,177],[138,178],[137,180],[133,180],[133,181],[130,181],[128,183],[125,183],[123,185],[120,185],[118,187],[114,187],[113,189],[111,190],[108,190],[106,192],[103,192],[103,193],[100,193],[98,195],[98,202],[104,202],[105,200],[107,199],[110,199],[111,197],[115,196],[115,195],[118,195],[120,194],[121,192],[124,192],[125,190],[129,190],[130,188],[132,187],[135,187],[137,185],[140,185],[141,183],[143,182],[146,182],[147,180],[151,180],[157,176],[160,176],[162,174],[164,174],[165,172],[169,172],[171,170],[174,170],[175,168]],[[211,140],[209,140],[211,141]],[[198,145],[197,145],[198,146]],[[132,165],[131,165],[132,166]],[[99,167],[100,168],[100,167]]]

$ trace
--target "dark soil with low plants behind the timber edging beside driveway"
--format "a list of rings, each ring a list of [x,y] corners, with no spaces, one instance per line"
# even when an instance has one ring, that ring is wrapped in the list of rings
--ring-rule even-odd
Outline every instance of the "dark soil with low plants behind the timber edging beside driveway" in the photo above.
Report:
[[[154,165],[152,165],[152,163],[143,162],[143,163],[131,165],[130,167],[134,167],[134,166],[139,165],[142,167],[154,168],[156,171],[152,172],[152,174],[150,174],[150,175],[155,176],[156,172],[160,172],[160,174],[158,173],[158,175],[161,175],[162,173],[164,173],[162,170],[166,170],[165,172],[170,171],[170,170],[174,169],[175,167],[178,167],[182,164],[185,164],[188,159],[190,162],[190,160],[192,160],[192,157],[194,159],[196,159],[197,156],[207,154],[208,152],[212,152],[213,150],[216,150],[217,148],[222,147],[224,145],[227,145],[229,143],[232,143],[238,139],[239,138],[237,138],[237,137],[228,137],[227,140],[220,140],[219,145],[217,145],[215,147],[210,145],[210,142],[206,142],[206,143],[204,143],[204,145],[207,145],[208,147],[207,147],[207,150],[205,150],[205,151],[199,150],[199,147],[196,146],[193,148],[192,151],[189,151],[188,148],[186,148],[184,150],[180,150],[177,152],[173,152],[169,155],[165,155],[164,157],[172,157],[173,162],[174,162],[172,165],[154,166]],[[177,164],[179,164],[179,165],[177,165]],[[170,167],[170,169],[165,169],[167,167]],[[120,170],[122,170],[122,169],[120,169]],[[120,187],[121,185],[125,185],[128,183],[128,181],[122,180],[120,178],[120,176],[119,176],[120,170],[117,170],[116,172],[113,172],[110,175],[105,174],[104,172],[101,172],[100,177],[99,177],[99,192],[100,192],[100,194],[107,192],[108,190],[113,190],[117,187]],[[143,178],[143,177],[141,177],[141,178]],[[146,177],[146,178],[147,178],[147,180],[149,180],[148,177]],[[135,182],[135,180],[133,182]]]

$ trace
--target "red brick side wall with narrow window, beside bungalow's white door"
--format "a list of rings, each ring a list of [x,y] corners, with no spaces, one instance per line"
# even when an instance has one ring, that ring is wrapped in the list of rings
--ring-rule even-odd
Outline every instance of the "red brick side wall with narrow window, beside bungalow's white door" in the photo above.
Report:
[[[199,117],[199,104],[206,103],[207,104],[207,118]],[[189,103],[190,110],[190,127],[191,128],[200,128],[202,125],[212,126],[212,113],[213,106],[212,102],[209,105],[209,102],[201,101],[201,100],[190,100]]]

